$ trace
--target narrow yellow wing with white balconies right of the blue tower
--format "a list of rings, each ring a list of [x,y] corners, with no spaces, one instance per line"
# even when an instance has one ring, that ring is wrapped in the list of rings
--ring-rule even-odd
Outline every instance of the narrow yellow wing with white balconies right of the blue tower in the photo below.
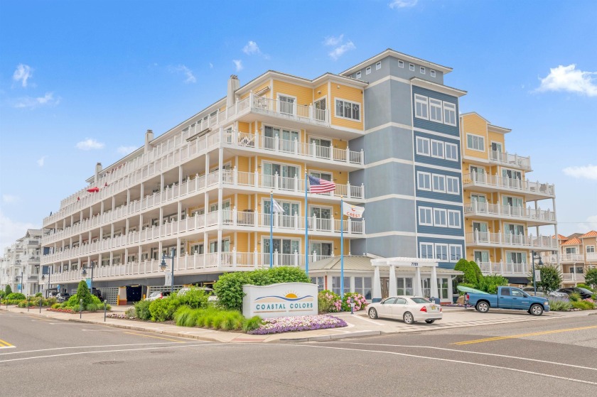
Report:
[[[557,248],[554,185],[530,180],[530,158],[506,151],[510,129],[474,112],[460,119],[466,258],[526,284],[532,252]],[[545,227],[554,232],[542,235]]]

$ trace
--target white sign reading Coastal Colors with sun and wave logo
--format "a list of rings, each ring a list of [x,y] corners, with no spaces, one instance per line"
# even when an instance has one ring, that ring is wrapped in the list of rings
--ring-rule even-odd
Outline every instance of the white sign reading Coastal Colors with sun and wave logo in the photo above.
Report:
[[[279,283],[242,285],[242,315],[262,318],[317,315],[317,285]]]

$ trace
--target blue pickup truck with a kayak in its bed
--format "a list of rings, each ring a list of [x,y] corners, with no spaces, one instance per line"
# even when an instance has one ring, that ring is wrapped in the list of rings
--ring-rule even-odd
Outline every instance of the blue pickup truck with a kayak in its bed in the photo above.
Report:
[[[527,310],[532,315],[549,312],[549,300],[529,295],[515,287],[497,287],[497,295],[466,293],[464,301],[466,305],[474,306],[480,313],[488,312],[489,308]]]

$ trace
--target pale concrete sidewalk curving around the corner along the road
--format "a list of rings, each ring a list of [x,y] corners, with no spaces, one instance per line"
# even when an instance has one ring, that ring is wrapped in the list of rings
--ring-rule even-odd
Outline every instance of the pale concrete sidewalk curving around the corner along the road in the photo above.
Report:
[[[112,313],[124,314],[131,306],[116,306]],[[144,332],[155,332],[172,337],[185,337],[191,339],[208,340],[215,342],[308,342],[316,340],[345,339],[350,337],[363,337],[371,335],[394,334],[401,332],[429,332],[434,330],[446,330],[458,327],[478,327],[483,325],[505,324],[512,322],[549,321],[562,317],[575,317],[581,315],[597,314],[594,310],[583,312],[547,312],[540,317],[529,315],[520,310],[498,311],[493,310],[485,314],[476,312],[474,309],[444,308],[443,320],[426,324],[417,322],[413,325],[406,325],[398,320],[377,319],[371,320],[364,311],[354,315],[350,313],[333,313],[348,323],[348,327],[332,328],[329,330],[313,330],[302,332],[285,332],[274,335],[247,335],[242,332],[215,331],[198,327],[178,327],[173,324],[159,322],[145,322],[139,320],[120,320],[107,318],[104,322],[104,312],[83,313],[82,319],[79,314],[50,312],[39,308],[18,308],[16,306],[0,307],[0,310],[23,313],[23,315],[41,316],[54,320],[85,322],[109,327],[124,328]]]

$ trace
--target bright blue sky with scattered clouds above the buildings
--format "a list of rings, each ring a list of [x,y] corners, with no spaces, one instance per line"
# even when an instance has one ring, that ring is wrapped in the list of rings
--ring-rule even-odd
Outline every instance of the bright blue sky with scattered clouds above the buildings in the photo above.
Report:
[[[266,70],[392,48],[453,67],[461,112],[512,129],[559,232],[597,229],[596,1],[0,2],[0,248],[109,165]]]

